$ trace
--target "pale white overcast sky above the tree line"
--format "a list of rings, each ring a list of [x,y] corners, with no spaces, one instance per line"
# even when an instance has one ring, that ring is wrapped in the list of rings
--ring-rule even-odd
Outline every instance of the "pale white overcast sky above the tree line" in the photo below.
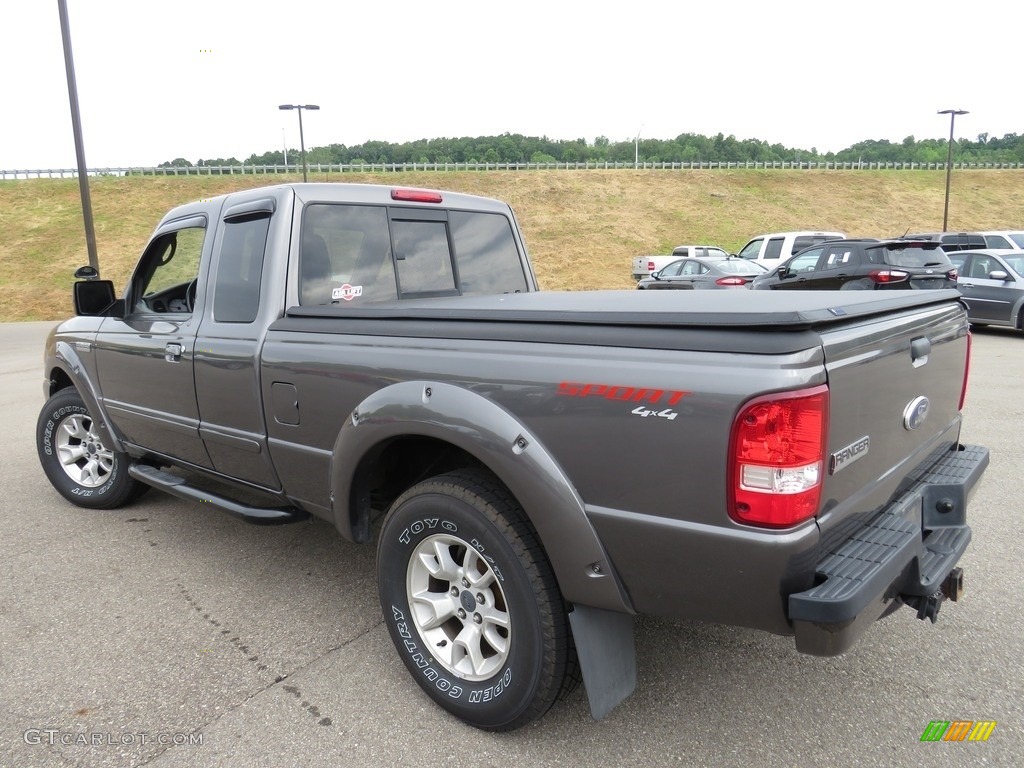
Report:
[[[90,168],[501,133],[819,152],[1024,132],[1024,6],[67,0]],[[0,169],[76,165],[56,0],[0,11]],[[1005,42],[1000,42],[1005,38]]]

